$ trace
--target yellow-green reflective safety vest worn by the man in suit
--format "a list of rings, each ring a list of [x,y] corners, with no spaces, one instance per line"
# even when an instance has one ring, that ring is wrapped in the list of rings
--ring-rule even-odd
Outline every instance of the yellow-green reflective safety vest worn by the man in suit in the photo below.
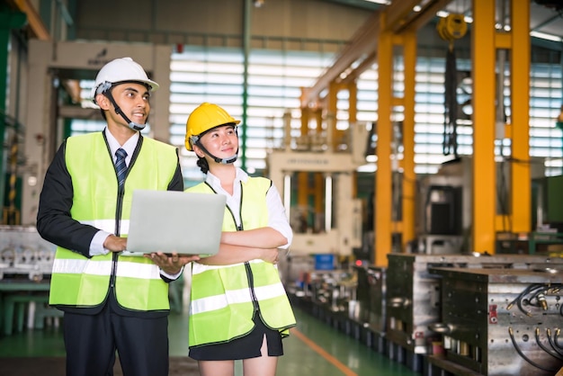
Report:
[[[178,159],[174,147],[143,138],[121,200],[113,159],[102,132],[68,138],[65,160],[74,192],[72,218],[126,236],[133,190],[166,190]],[[53,264],[49,304],[60,309],[99,306],[108,295],[112,274],[122,307],[139,311],[170,309],[168,284],[160,277],[158,266],[146,257],[110,252],[88,258],[61,246]]]

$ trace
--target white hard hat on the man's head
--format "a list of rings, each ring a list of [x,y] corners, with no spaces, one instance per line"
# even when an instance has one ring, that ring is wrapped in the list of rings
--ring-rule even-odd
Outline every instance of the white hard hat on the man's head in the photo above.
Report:
[[[133,61],[132,58],[116,58],[100,69],[96,76],[92,98],[109,90],[112,85],[121,82],[140,82],[148,85],[151,92],[158,89],[155,81],[149,80],[143,67]]]

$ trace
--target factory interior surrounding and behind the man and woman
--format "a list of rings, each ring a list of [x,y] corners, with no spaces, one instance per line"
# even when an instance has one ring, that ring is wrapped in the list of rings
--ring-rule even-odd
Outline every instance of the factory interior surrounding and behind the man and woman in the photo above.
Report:
[[[209,102],[281,194],[278,375],[563,375],[563,0],[4,0],[0,19],[0,376],[64,374],[39,195],[61,142],[103,130],[94,77],[122,57],[160,85],[142,133],[178,148],[185,188]],[[199,374],[189,274],[171,376]]]

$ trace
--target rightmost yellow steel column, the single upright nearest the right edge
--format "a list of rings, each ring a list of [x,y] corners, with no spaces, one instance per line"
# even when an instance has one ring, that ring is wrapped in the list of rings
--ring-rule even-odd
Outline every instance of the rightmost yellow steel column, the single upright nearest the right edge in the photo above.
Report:
[[[530,0],[512,0],[510,93],[512,122],[511,200],[513,232],[530,232]],[[518,162],[522,161],[522,162]]]

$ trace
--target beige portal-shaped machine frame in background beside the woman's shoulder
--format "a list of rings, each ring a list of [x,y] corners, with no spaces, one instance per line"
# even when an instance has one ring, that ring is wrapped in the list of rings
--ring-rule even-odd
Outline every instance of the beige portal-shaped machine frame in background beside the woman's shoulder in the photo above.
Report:
[[[290,218],[294,237],[291,244],[293,255],[334,254],[351,255],[354,247],[362,246],[362,201],[353,197],[353,171],[365,164],[363,150],[367,139],[364,124],[354,125],[353,145],[348,151],[321,148],[314,151],[311,146],[274,149],[267,157],[269,176],[278,188]],[[290,119],[286,119],[286,138],[290,138]],[[352,150],[352,151],[350,151]],[[302,226],[300,219],[306,213],[298,208],[292,195],[299,190],[297,173],[320,173],[324,176],[325,210],[317,218],[314,228]]]

